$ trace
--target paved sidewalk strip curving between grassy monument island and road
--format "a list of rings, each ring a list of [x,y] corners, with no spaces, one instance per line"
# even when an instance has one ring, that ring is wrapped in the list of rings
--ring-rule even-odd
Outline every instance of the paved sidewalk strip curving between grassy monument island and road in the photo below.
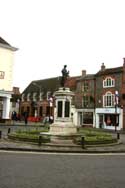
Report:
[[[24,143],[0,139],[0,150],[32,151],[32,152],[66,152],[66,153],[125,153],[125,135],[121,135],[118,144],[110,146],[94,146],[82,148],[78,145],[53,145]]]

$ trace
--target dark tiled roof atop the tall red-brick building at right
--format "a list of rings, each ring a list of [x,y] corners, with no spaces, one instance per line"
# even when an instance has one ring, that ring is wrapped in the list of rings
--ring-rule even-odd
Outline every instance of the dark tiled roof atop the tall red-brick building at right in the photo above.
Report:
[[[96,76],[101,76],[101,75],[108,75],[108,74],[114,74],[114,73],[119,73],[123,71],[123,67],[115,67],[115,68],[109,68],[105,70],[100,70],[97,72],[95,75]]]

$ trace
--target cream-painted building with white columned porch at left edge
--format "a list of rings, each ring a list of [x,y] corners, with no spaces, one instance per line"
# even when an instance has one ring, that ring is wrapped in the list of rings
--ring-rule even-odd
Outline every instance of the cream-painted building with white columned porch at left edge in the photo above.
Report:
[[[0,37],[0,119],[9,119],[12,94],[14,52],[12,47]]]

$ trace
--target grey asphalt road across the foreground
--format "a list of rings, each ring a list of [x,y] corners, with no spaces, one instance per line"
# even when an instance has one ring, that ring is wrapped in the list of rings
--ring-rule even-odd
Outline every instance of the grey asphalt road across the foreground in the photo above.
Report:
[[[124,154],[0,152],[0,188],[124,188]]]

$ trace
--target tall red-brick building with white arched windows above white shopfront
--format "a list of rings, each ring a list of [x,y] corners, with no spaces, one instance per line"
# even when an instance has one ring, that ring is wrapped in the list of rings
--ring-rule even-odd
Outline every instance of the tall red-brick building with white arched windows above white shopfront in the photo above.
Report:
[[[95,77],[95,125],[120,130],[123,128],[123,67],[106,69],[103,63]]]

